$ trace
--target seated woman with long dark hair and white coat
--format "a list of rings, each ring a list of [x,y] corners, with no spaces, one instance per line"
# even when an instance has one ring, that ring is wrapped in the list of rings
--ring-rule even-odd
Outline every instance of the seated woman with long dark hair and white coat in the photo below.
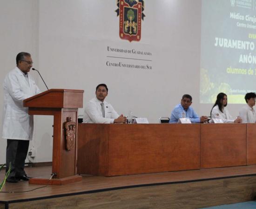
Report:
[[[227,109],[228,97],[225,93],[219,93],[213,108],[211,110],[211,118],[221,118],[224,123],[241,123],[240,117],[235,120],[231,118]]]

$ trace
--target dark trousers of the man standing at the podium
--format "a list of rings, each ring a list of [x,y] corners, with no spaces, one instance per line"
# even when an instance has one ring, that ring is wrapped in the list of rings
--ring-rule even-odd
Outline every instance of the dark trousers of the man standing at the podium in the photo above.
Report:
[[[29,140],[7,139],[6,172],[9,170],[9,165],[11,163],[9,177],[26,175],[24,165],[28,146]]]

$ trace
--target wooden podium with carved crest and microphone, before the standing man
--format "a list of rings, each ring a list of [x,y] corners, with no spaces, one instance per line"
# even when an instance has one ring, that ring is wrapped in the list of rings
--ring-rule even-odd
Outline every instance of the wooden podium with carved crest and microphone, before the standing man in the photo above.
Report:
[[[81,181],[76,175],[78,108],[83,90],[50,89],[23,101],[30,115],[53,115],[53,168],[56,175],[31,178],[29,183],[61,185]],[[71,122],[71,123],[68,123]],[[70,126],[68,126],[70,125]]]

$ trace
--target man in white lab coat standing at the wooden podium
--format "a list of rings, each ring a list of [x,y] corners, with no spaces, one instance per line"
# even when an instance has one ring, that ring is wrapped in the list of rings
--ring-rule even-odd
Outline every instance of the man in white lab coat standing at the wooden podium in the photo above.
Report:
[[[28,75],[33,61],[27,52],[16,56],[16,67],[4,80],[4,111],[2,137],[7,139],[6,170],[11,166],[7,182],[28,181],[24,171],[29,140],[33,136],[33,115],[23,107],[23,100],[40,93],[34,79]]]

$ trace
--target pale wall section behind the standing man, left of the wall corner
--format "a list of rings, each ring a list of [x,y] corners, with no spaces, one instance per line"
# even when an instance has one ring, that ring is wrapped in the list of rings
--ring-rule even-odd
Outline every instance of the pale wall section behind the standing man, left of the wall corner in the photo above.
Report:
[[[30,52],[38,62],[38,5],[36,0],[0,0],[0,98],[3,100],[2,83],[7,72],[16,66],[19,52]],[[37,80],[37,75],[31,72]],[[2,118],[3,102],[0,102]],[[2,135],[2,120],[0,121]],[[0,164],[5,163],[6,139],[0,140]]]

